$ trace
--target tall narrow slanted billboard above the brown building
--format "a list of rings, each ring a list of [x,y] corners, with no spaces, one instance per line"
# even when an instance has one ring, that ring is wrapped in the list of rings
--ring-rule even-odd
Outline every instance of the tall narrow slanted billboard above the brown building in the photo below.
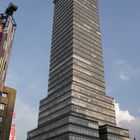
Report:
[[[0,21],[0,91],[2,91],[8,68],[15,26],[12,20],[8,20],[5,25],[3,25],[2,20]]]

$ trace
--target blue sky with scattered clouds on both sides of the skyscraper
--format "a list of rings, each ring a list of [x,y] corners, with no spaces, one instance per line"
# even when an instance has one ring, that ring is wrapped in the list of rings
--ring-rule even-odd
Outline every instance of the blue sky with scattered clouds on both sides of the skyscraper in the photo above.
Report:
[[[16,139],[37,125],[39,101],[47,96],[52,0],[15,2],[17,30],[6,84],[17,90]],[[106,91],[115,98],[117,123],[140,139],[140,1],[99,0]]]

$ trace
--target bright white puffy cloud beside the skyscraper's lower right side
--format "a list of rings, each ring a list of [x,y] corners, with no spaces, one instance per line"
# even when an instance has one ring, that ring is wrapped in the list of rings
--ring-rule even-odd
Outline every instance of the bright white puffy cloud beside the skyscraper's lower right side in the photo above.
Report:
[[[127,110],[121,110],[118,103],[115,103],[117,125],[130,130],[131,139],[140,139],[140,118],[135,117]]]

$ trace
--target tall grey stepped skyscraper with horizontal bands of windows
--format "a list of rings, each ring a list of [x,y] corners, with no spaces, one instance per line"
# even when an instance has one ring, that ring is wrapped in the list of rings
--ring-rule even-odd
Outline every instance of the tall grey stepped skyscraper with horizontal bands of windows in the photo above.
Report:
[[[48,97],[28,140],[129,140],[105,93],[97,0],[54,0]]]

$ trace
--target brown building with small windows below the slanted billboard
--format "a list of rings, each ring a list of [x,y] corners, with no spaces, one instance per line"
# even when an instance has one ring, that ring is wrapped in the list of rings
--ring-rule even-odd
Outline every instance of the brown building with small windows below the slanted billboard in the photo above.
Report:
[[[9,87],[3,87],[0,92],[0,139],[9,140],[11,122],[15,105],[16,91]]]

